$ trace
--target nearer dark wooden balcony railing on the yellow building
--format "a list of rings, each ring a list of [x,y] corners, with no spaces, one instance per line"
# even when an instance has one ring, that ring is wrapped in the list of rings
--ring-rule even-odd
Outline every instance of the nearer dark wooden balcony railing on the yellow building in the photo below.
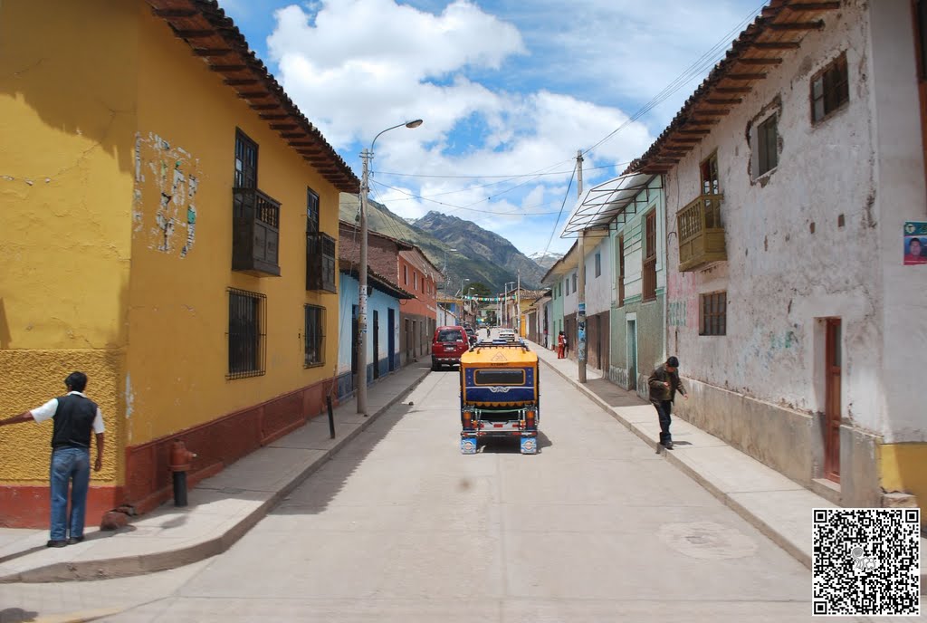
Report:
[[[257,188],[233,188],[232,215],[232,270],[279,276],[280,202]]]

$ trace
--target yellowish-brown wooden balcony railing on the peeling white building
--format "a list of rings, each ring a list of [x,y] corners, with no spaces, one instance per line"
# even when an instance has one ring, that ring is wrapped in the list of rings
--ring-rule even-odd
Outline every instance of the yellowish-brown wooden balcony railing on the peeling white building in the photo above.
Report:
[[[728,259],[721,223],[723,195],[699,195],[679,210],[679,272],[695,271],[715,261]]]

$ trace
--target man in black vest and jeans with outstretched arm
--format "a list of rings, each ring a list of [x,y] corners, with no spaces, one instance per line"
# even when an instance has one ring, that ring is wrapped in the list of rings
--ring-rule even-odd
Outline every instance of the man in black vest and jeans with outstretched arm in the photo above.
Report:
[[[83,521],[87,511],[90,486],[90,434],[96,437],[94,471],[103,466],[103,413],[94,401],[83,395],[87,375],[72,372],[64,379],[68,394],[45,402],[38,409],[19,413],[0,426],[20,422],[44,422],[54,418],[52,432],[51,540],[48,547],[64,547],[83,540]],[[68,487],[70,485],[70,521]],[[70,527],[70,538],[69,538]]]

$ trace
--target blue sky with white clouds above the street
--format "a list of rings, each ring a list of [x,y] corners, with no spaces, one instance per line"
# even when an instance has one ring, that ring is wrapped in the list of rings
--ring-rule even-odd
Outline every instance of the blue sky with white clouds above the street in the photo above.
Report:
[[[560,233],[577,199],[577,151],[587,187],[619,174],[763,5],[219,4],[358,176],[377,133],[425,121],[377,139],[372,198],[407,218],[439,210],[474,221],[526,254],[573,243]]]

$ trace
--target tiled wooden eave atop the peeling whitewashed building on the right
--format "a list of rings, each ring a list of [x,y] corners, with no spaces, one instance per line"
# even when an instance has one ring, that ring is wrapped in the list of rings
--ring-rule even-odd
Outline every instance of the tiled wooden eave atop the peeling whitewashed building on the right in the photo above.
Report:
[[[631,162],[624,174],[667,172],[667,167],[678,164],[710,134],[705,126],[717,123],[740,106],[740,95],[749,94],[755,83],[766,79],[769,69],[780,65],[787,55],[794,55],[806,33],[822,29],[827,14],[841,5],[840,1],[770,0],[654,145]]]

